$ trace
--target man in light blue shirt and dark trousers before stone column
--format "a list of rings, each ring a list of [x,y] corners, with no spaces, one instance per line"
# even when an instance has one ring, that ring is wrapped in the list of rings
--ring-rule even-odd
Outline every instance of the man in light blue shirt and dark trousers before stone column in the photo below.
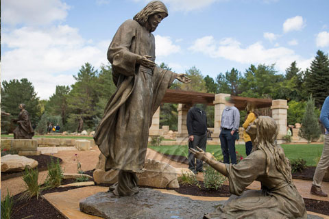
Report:
[[[223,153],[224,164],[236,164],[235,137],[234,133],[239,131],[240,112],[231,98],[226,99],[226,107],[221,114],[221,153]]]

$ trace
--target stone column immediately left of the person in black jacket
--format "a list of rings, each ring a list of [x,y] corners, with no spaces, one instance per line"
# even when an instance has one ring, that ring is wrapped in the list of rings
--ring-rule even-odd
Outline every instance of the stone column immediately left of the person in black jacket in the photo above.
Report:
[[[176,138],[178,141],[188,140],[188,131],[186,127],[187,112],[192,105],[178,104],[178,133]]]

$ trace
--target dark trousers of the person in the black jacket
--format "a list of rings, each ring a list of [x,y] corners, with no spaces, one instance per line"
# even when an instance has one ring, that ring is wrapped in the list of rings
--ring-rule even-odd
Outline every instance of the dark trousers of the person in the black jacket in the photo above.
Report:
[[[188,149],[195,149],[197,150],[197,146],[206,151],[206,144],[207,144],[207,133],[204,133],[202,136],[195,136],[193,142],[188,141]],[[195,168],[195,160],[197,163],[197,166]],[[196,159],[193,155],[193,153],[188,151],[188,169],[190,170],[197,170],[202,171],[204,164],[202,160]]]

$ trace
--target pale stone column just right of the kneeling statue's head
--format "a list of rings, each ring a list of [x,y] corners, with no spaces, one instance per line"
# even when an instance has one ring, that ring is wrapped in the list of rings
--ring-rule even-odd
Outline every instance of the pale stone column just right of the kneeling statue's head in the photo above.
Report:
[[[272,101],[272,118],[276,120],[278,125],[278,143],[284,142],[283,136],[287,135],[287,116],[288,105],[287,100],[273,100]]]

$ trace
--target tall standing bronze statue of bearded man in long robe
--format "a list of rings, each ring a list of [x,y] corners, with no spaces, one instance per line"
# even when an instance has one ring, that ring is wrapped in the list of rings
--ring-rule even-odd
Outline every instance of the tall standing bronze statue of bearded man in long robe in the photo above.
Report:
[[[167,88],[174,79],[191,82],[185,75],[158,68],[151,32],[168,16],[161,1],[151,1],[133,20],[125,21],[108,48],[116,92],[112,95],[94,139],[106,157],[106,170],[119,171],[110,190],[119,196],[138,192],[135,172],[143,171],[149,127]]]

